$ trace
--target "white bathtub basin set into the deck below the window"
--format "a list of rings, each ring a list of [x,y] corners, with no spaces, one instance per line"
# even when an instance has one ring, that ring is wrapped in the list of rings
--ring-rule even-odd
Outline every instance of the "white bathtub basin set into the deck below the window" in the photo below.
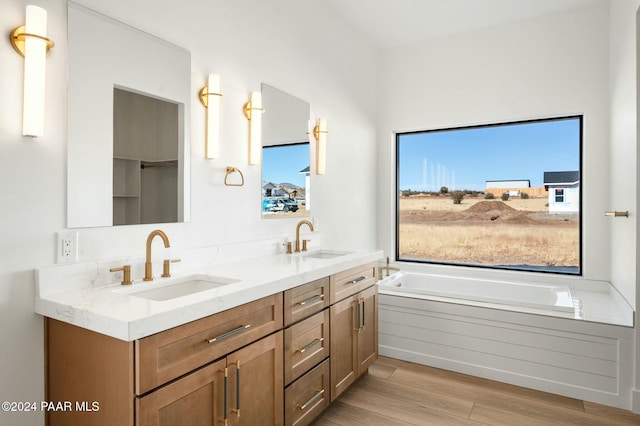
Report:
[[[473,278],[452,278],[397,272],[380,281],[383,293],[444,297],[456,300],[506,305],[510,308],[534,308],[574,312],[576,306],[566,286],[519,284]]]

